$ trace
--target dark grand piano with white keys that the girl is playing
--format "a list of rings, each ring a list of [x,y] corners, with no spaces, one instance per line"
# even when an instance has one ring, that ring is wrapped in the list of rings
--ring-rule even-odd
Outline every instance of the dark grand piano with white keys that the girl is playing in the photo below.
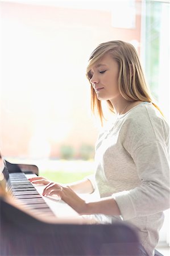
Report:
[[[139,255],[134,227],[83,221],[61,200],[42,197],[40,186],[28,182],[38,175],[31,168],[0,157],[0,255]]]

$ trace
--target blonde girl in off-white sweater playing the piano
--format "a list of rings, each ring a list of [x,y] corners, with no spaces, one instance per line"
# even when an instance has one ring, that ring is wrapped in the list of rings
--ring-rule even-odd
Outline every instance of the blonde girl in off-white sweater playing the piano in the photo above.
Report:
[[[139,229],[140,254],[154,255],[169,208],[169,127],[152,102],[135,48],[122,41],[99,44],[89,59],[87,77],[92,110],[103,120],[101,101],[117,116],[99,134],[96,143],[95,182],[87,177],[77,183],[47,184],[43,195],[58,195],[80,214],[120,216]],[[100,199],[87,203],[77,193],[98,189]],[[99,219],[99,218],[98,218]]]

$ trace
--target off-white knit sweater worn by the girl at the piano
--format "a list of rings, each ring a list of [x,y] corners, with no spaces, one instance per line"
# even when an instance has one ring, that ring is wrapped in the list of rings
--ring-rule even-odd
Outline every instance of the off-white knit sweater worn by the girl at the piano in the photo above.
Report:
[[[148,102],[119,115],[96,143],[99,195],[113,195],[123,221],[139,229],[148,255],[154,255],[169,208],[168,154],[169,126]]]

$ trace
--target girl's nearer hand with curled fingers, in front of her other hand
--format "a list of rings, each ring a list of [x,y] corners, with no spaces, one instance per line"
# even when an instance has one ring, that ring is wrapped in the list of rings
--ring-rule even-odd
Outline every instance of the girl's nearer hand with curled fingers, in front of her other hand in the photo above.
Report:
[[[59,196],[65,203],[70,205],[79,214],[87,213],[87,204],[69,186],[58,183],[49,183],[44,188],[43,196]]]

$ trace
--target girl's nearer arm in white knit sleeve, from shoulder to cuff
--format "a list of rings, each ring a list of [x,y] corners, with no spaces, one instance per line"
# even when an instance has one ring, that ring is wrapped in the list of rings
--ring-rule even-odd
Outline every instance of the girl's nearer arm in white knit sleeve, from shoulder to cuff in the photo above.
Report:
[[[138,178],[136,187],[113,195],[123,220],[169,208],[169,127],[151,109],[134,113],[131,112],[119,133]]]

